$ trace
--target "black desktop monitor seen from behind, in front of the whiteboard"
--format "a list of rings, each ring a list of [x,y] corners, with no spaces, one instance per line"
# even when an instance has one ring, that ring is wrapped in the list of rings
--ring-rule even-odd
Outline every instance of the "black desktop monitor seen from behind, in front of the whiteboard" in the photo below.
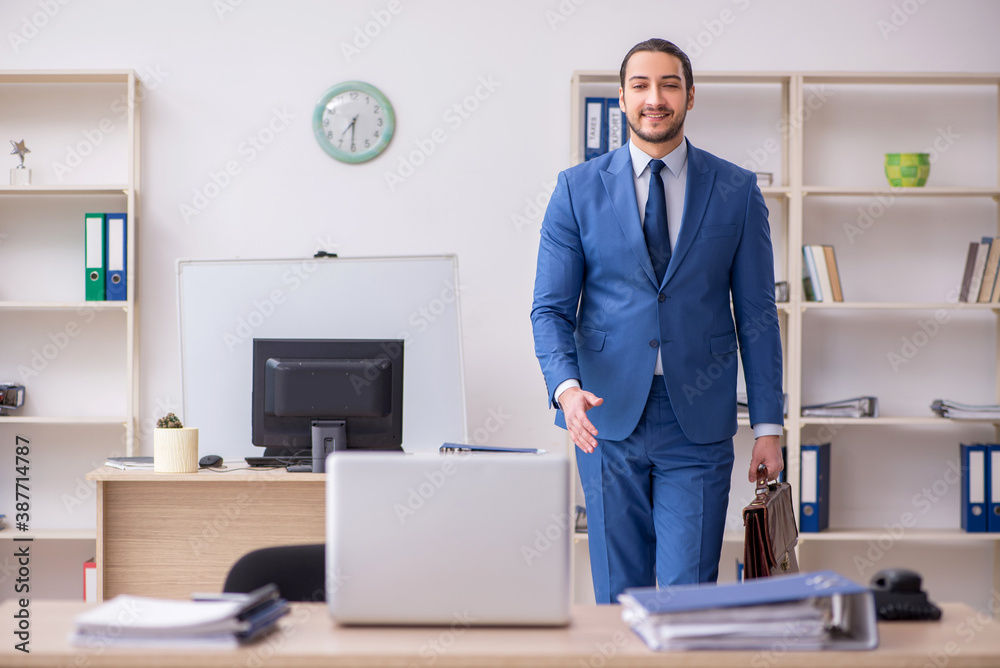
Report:
[[[252,441],[265,457],[312,463],[334,450],[403,442],[403,341],[254,339]]]

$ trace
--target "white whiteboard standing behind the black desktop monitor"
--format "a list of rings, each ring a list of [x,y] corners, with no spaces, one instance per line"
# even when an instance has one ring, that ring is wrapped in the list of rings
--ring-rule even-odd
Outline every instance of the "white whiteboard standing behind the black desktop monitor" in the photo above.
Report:
[[[180,260],[184,424],[199,451],[251,443],[254,338],[403,339],[403,448],[468,442],[455,256]]]

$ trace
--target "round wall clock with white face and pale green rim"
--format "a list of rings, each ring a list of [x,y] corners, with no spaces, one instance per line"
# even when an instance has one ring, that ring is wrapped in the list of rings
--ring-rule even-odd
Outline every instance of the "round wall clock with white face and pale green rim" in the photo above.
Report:
[[[396,115],[388,98],[360,81],[346,81],[326,91],[313,113],[316,140],[342,162],[376,157],[392,141],[395,129]]]

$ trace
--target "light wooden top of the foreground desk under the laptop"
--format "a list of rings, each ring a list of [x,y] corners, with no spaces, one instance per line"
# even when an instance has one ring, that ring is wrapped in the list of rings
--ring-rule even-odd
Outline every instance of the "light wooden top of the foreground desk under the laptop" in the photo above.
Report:
[[[879,625],[880,646],[870,652],[650,651],[621,620],[618,606],[577,606],[561,629],[344,628],[322,604],[294,604],[281,630],[239,650],[156,651],[71,647],[77,602],[31,604],[31,653],[14,650],[15,603],[0,605],[0,666],[88,668],[265,668],[329,666],[1000,666],[1000,624],[965,605],[943,605],[940,622]]]

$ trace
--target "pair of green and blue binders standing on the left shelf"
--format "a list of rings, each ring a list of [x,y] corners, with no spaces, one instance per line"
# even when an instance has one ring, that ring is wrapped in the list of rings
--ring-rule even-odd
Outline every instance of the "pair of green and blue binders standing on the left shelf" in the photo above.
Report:
[[[84,216],[88,302],[127,299],[127,235],[124,213],[88,213]]]

